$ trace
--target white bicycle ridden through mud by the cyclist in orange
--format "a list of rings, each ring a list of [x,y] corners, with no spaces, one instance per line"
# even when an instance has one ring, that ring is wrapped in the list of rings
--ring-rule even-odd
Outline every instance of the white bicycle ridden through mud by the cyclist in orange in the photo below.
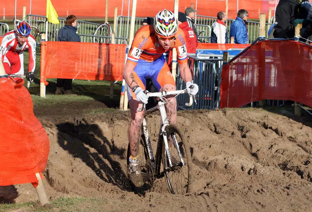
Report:
[[[176,95],[187,93],[187,89],[177,91],[161,91],[157,93],[148,93],[144,91],[149,97],[157,97],[158,105],[154,108],[145,111],[145,116],[159,110],[161,116],[161,125],[159,129],[158,143],[156,149],[156,155],[153,155],[153,149],[149,138],[149,132],[147,129],[147,123],[145,118],[142,124],[142,135],[139,145],[139,161],[141,166],[141,172],[144,179],[144,185],[141,188],[136,188],[132,185],[134,190],[149,189],[154,191],[154,182],[156,179],[165,177],[168,185],[168,189],[171,194],[185,194],[190,191],[190,185],[192,183],[192,156],[190,148],[188,146],[187,137],[183,135],[182,131],[177,127],[169,124],[165,104],[168,104],[166,99],[167,95]],[[172,100],[173,100],[172,99]],[[171,101],[172,101],[171,100]],[[193,97],[189,96],[189,102],[187,106],[193,104]],[[142,111],[145,105],[142,104],[138,111]],[[168,140],[173,140],[171,151],[169,150]],[[129,165],[130,156],[130,144],[127,150],[127,164]],[[175,159],[175,163],[171,160]],[[161,162],[163,164],[163,170],[161,172]],[[176,176],[176,175],[177,176]],[[173,176],[175,175],[175,176]],[[181,177],[181,179],[179,178]],[[177,179],[179,178],[179,179]],[[173,182],[176,180],[175,182]],[[180,184],[181,185],[178,185]]]

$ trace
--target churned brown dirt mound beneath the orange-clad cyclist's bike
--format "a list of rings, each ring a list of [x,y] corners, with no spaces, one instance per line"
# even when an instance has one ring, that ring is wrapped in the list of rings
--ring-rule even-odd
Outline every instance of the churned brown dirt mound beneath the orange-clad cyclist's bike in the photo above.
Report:
[[[147,117],[156,150],[160,118]],[[128,112],[55,121],[41,118],[50,139],[45,187],[60,196],[107,198],[119,210],[310,211],[312,130],[263,109],[182,111],[178,123],[189,135],[192,193],[170,195],[159,180],[140,197],[126,177]],[[6,187],[6,189],[10,189]],[[11,187],[15,201],[37,200],[32,185]],[[2,189],[3,190],[3,189]],[[0,194],[1,196],[1,194]]]

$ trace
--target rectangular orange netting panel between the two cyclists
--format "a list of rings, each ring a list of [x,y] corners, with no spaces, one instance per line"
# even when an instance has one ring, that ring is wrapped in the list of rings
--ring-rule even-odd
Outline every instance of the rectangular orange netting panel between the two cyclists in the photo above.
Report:
[[[40,82],[47,78],[121,81],[125,53],[125,44],[42,42]]]

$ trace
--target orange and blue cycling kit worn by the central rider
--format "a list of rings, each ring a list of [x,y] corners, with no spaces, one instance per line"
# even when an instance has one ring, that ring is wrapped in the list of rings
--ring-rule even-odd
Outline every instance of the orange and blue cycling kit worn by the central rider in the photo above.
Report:
[[[178,63],[187,63],[186,39],[184,32],[180,28],[169,50],[173,48],[177,50]],[[136,32],[127,62],[135,65],[134,79],[141,88],[145,89],[146,79],[151,79],[157,91],[166,84],[175,86],[173,76],[163,56],[164,52],[166,50],[159,44],[153,25],[142,26]],[[131,90],[129,86],[127,87],[127,90]],[[128,92],[128,99],[133,98],[135,98],[135,94]]]

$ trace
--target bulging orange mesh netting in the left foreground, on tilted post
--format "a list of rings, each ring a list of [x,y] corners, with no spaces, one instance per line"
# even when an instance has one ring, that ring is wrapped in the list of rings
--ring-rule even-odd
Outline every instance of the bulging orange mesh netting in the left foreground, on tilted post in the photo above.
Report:
[[[36,173],[46,168],[48,136],[24,80],[3,77],[0,84],[0,185],[37,182]]]

